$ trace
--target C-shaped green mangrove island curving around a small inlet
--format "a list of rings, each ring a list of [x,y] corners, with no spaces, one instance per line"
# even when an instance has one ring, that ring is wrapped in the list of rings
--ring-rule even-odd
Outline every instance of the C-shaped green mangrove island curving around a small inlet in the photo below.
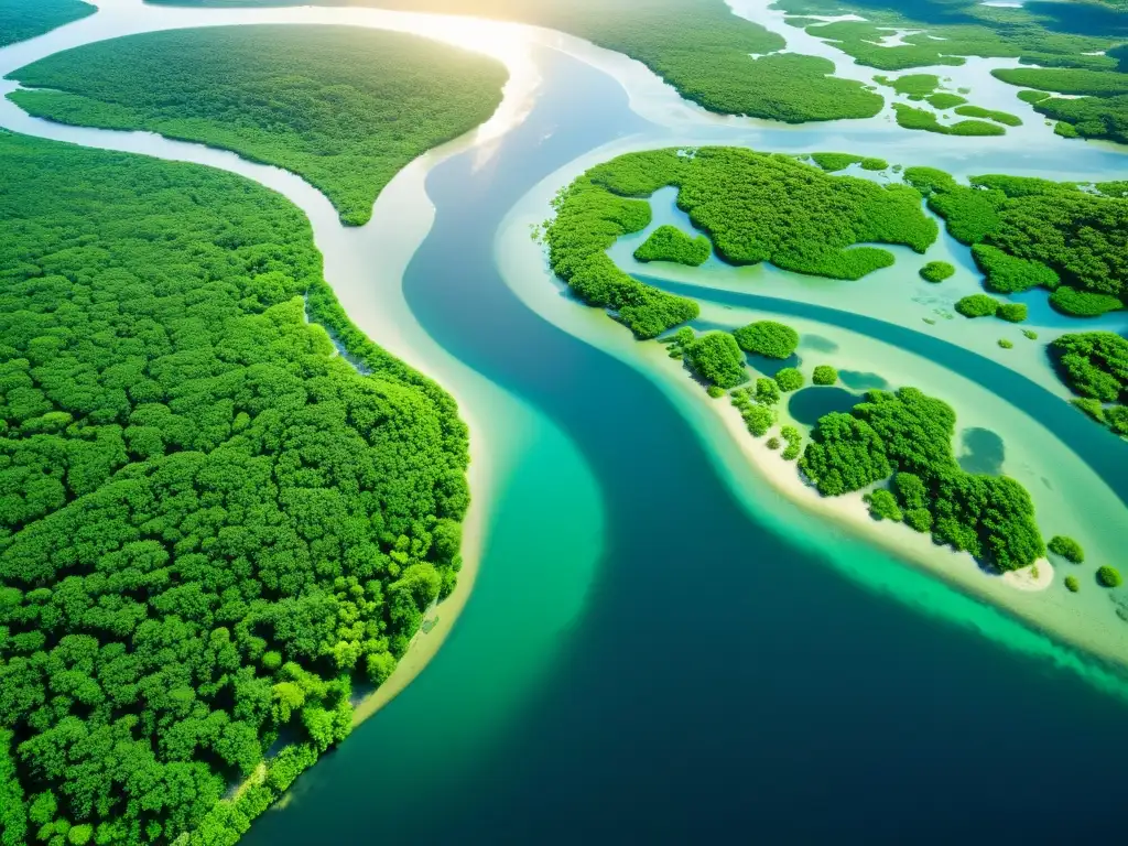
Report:
[[[638,337],[658,337],[698,314],[615,266],[607,249],[651,221],[647,202],[677,186],[678,206],[732,264],[773,262],[785,270],[860,279],[893,263],[879,247],[927,249],[937,235],[920,195],[904,185],[829,176],[787,156],[739,148],[653,150],[598,165],[562,192],[545,238],[553,271],[584,302],[606,308]],[[854,247],[854,248],[849,248]]]

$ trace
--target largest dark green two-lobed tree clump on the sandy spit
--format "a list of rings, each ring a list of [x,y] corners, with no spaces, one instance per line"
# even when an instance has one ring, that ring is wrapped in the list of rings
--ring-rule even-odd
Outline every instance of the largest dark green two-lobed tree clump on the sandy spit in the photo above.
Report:
[[[955,414],[941,400],[916,388],[875,390],[849,414],[819,420],[801,467],[825,496],[893,476],[906,522],[931,528],[936,543],[1002,571],[1032,564],[1045,546],[1030,495],[1014,479],[960,468],[954,433]]]

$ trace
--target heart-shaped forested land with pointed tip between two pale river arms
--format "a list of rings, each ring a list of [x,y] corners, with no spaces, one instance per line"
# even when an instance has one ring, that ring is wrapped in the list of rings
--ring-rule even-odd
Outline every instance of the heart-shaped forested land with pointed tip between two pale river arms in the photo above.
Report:
[[[405,165],[490,117],[506,73],[413,35],[239,26],[98,42],[12,76],[50,89],[11,95],[32,114],[233,150],[298,174],[361,224]]]

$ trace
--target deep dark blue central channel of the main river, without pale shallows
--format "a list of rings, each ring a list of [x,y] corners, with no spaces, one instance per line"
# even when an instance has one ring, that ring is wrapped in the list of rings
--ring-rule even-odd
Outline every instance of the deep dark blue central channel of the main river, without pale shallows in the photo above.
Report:
[[[429,720],[458,719],[440,654],[247,841],[1120,835],[1122,703],[875,597],[781,541],[733,501],[649,380],[546,323],[504,284],[492,247],[505,212],[593,143],[637,129],[607,78],[557,55],[544,61],[538,105],[493,162],[475,169],[472,153],[431,174],[437,219],[405,292],[433,337],[579,446],[607,510],[596,584],[546,678],[482,748],[430,740]],[[547,491],[554,478],[540,484]],[[518,550],[530,579],[543,552],[535,536]],[[491,566],[487,553],[483,574]],[[481,591],[472,606],[490,601]],[[497,653],[505,649],[499,637]]]

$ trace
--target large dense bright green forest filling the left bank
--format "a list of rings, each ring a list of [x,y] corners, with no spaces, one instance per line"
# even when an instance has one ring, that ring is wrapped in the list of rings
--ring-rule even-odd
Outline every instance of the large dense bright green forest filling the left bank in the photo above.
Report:
[[[452,589],[466,428],[281,196],[10,133],[0,159],[5,843],[233,844]]]

